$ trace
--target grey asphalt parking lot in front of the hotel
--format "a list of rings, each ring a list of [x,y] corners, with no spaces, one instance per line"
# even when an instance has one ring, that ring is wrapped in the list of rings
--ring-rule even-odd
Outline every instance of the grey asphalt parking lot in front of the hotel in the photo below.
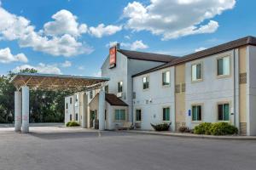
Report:
[[[0,128],[2,170],[255,169],[256,142],[183,139],[67,127]]]

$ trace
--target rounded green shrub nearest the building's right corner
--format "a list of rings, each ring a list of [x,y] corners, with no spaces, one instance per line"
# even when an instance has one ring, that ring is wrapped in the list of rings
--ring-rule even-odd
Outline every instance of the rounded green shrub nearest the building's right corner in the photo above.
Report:
[[[229,135],[237,134],[238,129],[227,122],[216,122],[212,124],[210,132],[212,135]]]

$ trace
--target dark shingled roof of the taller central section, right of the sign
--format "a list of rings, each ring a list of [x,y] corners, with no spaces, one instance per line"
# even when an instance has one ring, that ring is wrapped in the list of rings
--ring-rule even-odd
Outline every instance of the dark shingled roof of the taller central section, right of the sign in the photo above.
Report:
[[[166,54],[153,54],[153,53],[144,53],[138,51],[130,51],[125,49],[119,49],[119,53],[124,54],[129,59],[140,59],[140,60],[148,60],[148,61],[159,61],[163,63],[167,63],[172,61],[173,59],[177,59],[177,57]]]

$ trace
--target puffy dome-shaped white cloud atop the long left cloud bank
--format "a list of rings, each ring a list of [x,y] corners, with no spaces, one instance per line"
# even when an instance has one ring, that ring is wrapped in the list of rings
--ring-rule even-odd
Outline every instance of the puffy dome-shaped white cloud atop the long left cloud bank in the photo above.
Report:
[[[80,36],[87,32],[85,24],[79,25],[77,16],[73,15],[68,10],[62,9],[56,14],[52,15],[54,21],[44,24],[44,33],[49,36],[61,36],[69,34],[74,37]]]

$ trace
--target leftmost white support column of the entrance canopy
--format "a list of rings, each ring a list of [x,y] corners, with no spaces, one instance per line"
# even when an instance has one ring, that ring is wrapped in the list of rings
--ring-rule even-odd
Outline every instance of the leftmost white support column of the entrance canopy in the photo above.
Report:
[[[21,130],[21,92],[15,92],[15,132]]]

